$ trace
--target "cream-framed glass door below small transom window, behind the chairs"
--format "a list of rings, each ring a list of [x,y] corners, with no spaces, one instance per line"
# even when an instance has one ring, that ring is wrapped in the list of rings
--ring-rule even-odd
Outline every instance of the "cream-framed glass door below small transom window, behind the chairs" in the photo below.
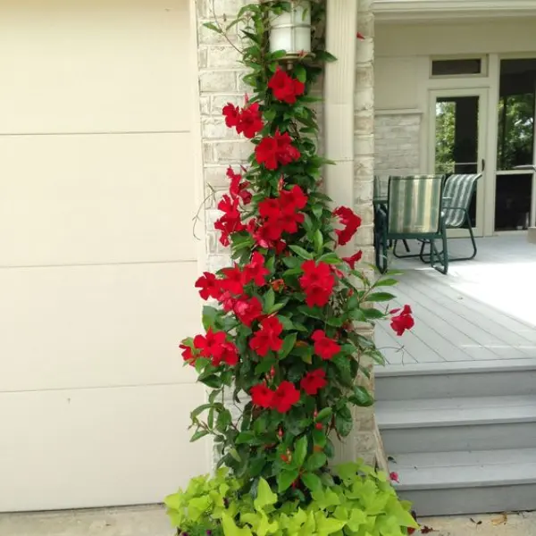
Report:
[[[447,177],[485,172],[487,89],[431,91],[430,163],[434,173]],[[484,223],[485,174],[477,183],[469,211],[474,234],[482,236]],[[452,230],[449,234],[467,234]]]

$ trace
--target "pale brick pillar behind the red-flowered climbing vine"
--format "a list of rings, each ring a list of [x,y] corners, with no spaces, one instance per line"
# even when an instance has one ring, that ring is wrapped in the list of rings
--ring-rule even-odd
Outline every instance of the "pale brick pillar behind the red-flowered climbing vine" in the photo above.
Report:
[[[373,13],[372,0],[359,0],[358,30],[365,36],[357,41],[356,62],[356,131],[355,131],[355,200],[354,208],[363,218],[363,227],[356,236],[356,248],[364,251],[367,262],[373,261],[373,169],[374,169],[374,107],[373,107]],[[247,0],[216,0],[215,15],[227,20],[238,13]],[[222,118],[222,107],[227,102],[241,105],[247,87],[241,81],[243,67],[238,63],[239,53],[222,36],[203,27],[214,20],[212,0],[197,0],[198,70],[205,180],[206,269],[214,272],[226,266],[230,257],[218,241],[214,221],[219,217],[215,205],[228,188],[225,171],[228,165],[245,162],[251,151],[250,142],[240,139],[227,129]],[[238,39],[236,31],[231,41]],[[321,87],[318,88],[322,90]],[[318,110],[319,113],[322,110]],[[319,117],[322,124],[322,117]],[[215,192],[214,196],[212,195]],[[369,387],[373,389],[373,381]],[[355,456],[364,456],[373,463],[378,458],[381,444],[374,423],[372,409],[356,412]]]

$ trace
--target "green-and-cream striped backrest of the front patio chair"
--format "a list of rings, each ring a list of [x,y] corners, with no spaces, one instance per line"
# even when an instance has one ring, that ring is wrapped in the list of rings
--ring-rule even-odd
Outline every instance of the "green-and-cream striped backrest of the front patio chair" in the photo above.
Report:
[[[389,177],[389,234],[434,234],[440,230],[444,175]]]

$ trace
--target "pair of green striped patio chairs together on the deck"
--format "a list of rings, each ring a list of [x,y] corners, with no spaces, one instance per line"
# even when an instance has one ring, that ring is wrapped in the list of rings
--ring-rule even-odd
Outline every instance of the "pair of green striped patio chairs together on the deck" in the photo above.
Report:
[[[418,258],[443,274],[453,261],[470,260],[477,254],[469,214],[477,180],[482,173],[374,177],[376,265],[387,272],[389,257]],[[448,252],[448,230],[465,229],[472,251],[456,256]],[[418,252],[407,241],[417,240]],[[402,242],[406,253],[399,253]],[[389,250],[391,255],[389,255]]]

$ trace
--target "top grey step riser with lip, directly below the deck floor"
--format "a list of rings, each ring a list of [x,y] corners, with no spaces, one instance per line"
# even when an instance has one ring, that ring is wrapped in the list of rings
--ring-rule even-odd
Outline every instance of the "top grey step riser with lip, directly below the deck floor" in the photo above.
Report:
[[[378,400],[536,394],[536,358],[377,367]]]

